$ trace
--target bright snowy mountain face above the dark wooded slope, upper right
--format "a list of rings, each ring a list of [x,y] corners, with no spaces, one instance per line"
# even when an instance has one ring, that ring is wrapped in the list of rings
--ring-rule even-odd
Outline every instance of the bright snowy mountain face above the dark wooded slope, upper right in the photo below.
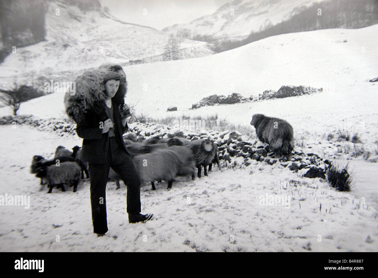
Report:
[[[325,0],[236,0],[220,7],[214,14],[197,18],[187,24],[177,24],[163,31],[188,30],[190,37],[196,35],[212,38],[242,40],[252,31],[288,20],[302,9]]]

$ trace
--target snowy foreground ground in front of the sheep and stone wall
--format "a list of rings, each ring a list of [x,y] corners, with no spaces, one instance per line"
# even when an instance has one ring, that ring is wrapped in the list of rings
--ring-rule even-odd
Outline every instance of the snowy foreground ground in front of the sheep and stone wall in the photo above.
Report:
[[[0,131],[0,151],[6,154],[1,194],[30,195],[29,209],[0,207],[0,251],[378,250],[377,214],[369,201],[362,204],[352,194],[336,192],[318,178],[302,178],[279,163],[257,162],[246,169],[214,169],[195,181],[180,178],[170,191],[166,183],[156,191],[143,186],[142,211],[154,213],[145,224],[128,223],[126,188],[121,183],[116,190],[115,183],[108,183],[109,231],[98,238],[92,230],[88,180],[76,193],[68,187],[46,194],[29,174],[34,154],[51,156],[57,145],[72,147],[81,140],[28,126],[1,126]],[[290,203],[264,205],[266,194],[289,196]]]

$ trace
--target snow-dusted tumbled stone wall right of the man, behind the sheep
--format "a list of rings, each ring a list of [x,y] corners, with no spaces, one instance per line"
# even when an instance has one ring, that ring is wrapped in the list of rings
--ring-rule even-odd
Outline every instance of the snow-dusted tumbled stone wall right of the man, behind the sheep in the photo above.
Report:
[[[280,163],[281,166],[298,172],[298,170],[308,169],[304,177],[325,178],[325,169],[330,161],[323,160],[313,153],[307,153],[296,148],[291,160],[286,158],[274,158],[274,152],[270,151],[268,145],[263,145],[257,139],[249,138],[238,131],[181,131],[177,127],[169,127],[161,124],[131,124],[130,131],[124,135],[124,139],[132,141],[144,141],[153,137],[172,138],[183,137],[188,140],[212,139],[218,146],[220,161],[231,164],[232,167],[245,167],[251,165],[253,161],[273,165]]]

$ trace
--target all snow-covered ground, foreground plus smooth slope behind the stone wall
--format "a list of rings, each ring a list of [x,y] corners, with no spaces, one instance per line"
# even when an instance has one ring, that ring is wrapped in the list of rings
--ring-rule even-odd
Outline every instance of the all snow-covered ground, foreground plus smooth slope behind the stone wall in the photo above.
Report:
[[[167,61],[125,68],[128,103],[151,117],[218,114],[231,123],[248,125],[263,113],[288,120],[296,138],[304,136],[304,152],[335,157],[344,165],[348,155],[335,155],[328,132],[358,132],[366,147],[378,135],[378,25],[364,29],[330,29],[285,34],[256,41],[209,57]],[[346,40],[346,42],[344,42]],[[256,103],[188,110],[212,94],[242,95],[277,90],[282,85],[323,87],[322,93]],[[328,88],[328,89],[327,89]],[[166,112],[170,105],[177,112]],[[8,108],[1,115],[11,114]],[[19,114],[64,117],[63,94],[23,103]],[[253,130],[253,127],[251,127]],[[350,161],[353,190],[337,192],[319,178],[301,177],[280,163],[254,162],[244,169],[214,169],[209,177],[180,181],[170,191],[141,190],[142,210],[152,221],[129,224],[126,190],[108,183],[109,232],[92,233],[89,182],[76,193],[39,191],[29,174],[33,155],[52,157],[55,148],[72,148],[81,139],[60,137],[28,126],[0,126],[0,195],[30,195],[31,206],[0,206],[1,251],[377,251],[376,163]],[[290,196],[290,208],[265,206],[262,197]],[[60,241],[56,238],[59,235]],[[321,241],[319,241],[321,239]]]

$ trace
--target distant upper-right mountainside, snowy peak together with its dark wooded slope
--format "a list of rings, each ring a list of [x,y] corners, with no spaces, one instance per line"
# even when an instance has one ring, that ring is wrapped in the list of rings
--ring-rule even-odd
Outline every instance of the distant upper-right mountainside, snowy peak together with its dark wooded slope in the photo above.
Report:
[[[237,0],[188,25],[163,30],[211,42],[215,52],[222,52],[273,35],[330,28],[355,29],[377,23],[377,0]],[[209,26],[212,29],[207,29]]]

